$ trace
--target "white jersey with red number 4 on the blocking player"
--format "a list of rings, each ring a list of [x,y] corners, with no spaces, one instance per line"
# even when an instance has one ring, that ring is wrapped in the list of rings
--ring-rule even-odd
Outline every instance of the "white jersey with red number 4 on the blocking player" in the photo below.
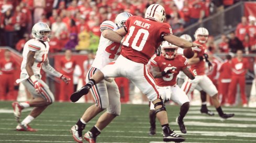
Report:
[[[105,29],[116,31],[118,28],[114,22],[107,20],[102,22],[100,26],[101,32]],[[104,38],[103,35],[101,35],[101,38],[99,40],[98,50],[96,53],[96,57],[93,61],[92,67],[95,67],[101,70],[109,62],[116,60],[117,57],[120,55],[120,50],[121,50],[120,47],[121,47],[120,43],[112,42],[107,38]]]

